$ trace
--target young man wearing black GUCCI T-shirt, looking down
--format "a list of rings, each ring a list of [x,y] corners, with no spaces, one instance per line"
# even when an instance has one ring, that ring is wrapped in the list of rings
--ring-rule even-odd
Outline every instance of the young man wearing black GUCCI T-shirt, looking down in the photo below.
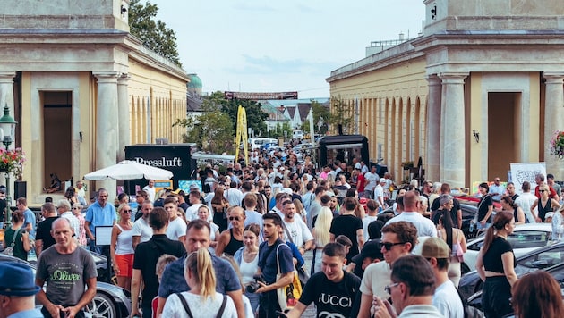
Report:
[[[318,317],[348,317],[361,280],[343,271],[345,247],[329,243],[323,247],[322,272],[316,272],[303,288],[302,297],[288,317],[300,317],[308,305],[315,303]]]

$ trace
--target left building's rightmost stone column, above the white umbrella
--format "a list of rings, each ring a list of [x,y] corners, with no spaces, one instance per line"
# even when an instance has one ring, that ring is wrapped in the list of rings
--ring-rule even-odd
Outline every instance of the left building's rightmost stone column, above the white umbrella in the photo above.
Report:
[[[117,79],[117,125],[118,138],[117,138],[117,162],[125,159],[125,146],[129,146],[132,142],[131,138],[131,122],[129,114],[129,98],[127,95],[127,81],[131,77],[127,74],[122,74]]]

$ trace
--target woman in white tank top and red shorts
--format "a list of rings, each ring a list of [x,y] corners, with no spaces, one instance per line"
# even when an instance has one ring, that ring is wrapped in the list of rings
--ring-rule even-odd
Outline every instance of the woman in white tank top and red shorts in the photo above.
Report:
[[[130,290],[133,275],[133,222],[131,220],[132,208],[124,203],[117,207],[119,221],[112,229],[110,255],[117,285]]]

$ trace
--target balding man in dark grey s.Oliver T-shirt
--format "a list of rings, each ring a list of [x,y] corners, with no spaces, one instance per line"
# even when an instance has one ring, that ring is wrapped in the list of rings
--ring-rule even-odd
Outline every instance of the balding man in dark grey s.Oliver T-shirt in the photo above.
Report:
[[[39,255],[35,284],[47,288],[37,294],[46,317],[84,317],[82,308],[96,295],[96,264],[90,252],[78,246],[66,218],[56,219],[51,228],[55,245]],[[88,289],[87,289],[88,288]]]

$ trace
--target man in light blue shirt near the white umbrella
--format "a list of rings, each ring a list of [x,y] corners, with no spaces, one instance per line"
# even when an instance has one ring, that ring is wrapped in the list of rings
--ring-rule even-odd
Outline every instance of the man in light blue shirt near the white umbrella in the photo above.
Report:
[[[116,219],[117,214],[114,205],[107,203],[107,189],[98,189],[98,199],[86,210],[86,217],[84,218],[84,230],[86,231],[86,238],[89,239],[90,251],[102,254],[102,246],[96,245],[96,227],[114,226]],[[108,248],[105,248],[105,251],[108,251]],[[109,253],[105,255],[109,256]]]

